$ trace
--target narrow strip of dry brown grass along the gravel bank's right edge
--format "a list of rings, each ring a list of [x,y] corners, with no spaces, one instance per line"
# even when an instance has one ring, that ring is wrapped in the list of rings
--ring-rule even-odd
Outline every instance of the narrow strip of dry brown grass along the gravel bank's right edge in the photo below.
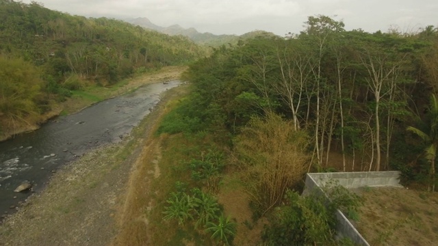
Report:
[[[186,87],[181,86],[172,90],[170,97],[180,98],[185,93]],[[149,123],[153,126],[146,133],[145,137],[148,140],[144,143],[141,154],[131,169],[125,202],[117,216],[120,228],[112,245],[150,245],[151,238],[154,236],[154,226],[150,226],[149,217],[153,207],[156,206],[156,196],[166,190],[154,189],[155,182],[166,176],[161,175],[165,172],[161,167],[161,146],[166,137],[153,137],[153,133],[157,129],[157,123],[170,110],[168,105],[172,105],[172,100],[161,106],[162,108],[158,110],[159,115],[155,115],[154,122]],[[166,182],[164,185],[167,185]]]

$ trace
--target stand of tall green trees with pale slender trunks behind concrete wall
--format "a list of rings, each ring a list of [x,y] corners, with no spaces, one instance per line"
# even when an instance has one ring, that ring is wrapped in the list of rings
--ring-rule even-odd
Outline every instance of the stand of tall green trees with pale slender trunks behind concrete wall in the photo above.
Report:
[[[311,17],[306,25],[286,39],[223,46],[194,64],[188,73],[197,92],[192,100],[203,103],[193,107],[205,114],[192,118],[205,129],[223,124],[238,134],[254,115],[283,115],[311,135],[318,168],[330,163],[333,149],[343,153],[344,171],[396,168],[412,160],[404,150],[418,146],[407,143],[413,138],[407,126],[426,120],[438,89],[437,30],[345,31],[344,23],[326,16]]]

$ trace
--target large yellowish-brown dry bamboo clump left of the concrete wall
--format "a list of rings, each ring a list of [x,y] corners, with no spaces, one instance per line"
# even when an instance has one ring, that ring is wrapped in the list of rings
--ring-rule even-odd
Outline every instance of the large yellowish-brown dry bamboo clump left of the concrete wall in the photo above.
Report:
[[[236,141],[237,165],[244,189],[261,215],[279,204],[285,190],[302,180],[309,156],[305,133],[295,131],[292,122],[270,113],[251,120]]]

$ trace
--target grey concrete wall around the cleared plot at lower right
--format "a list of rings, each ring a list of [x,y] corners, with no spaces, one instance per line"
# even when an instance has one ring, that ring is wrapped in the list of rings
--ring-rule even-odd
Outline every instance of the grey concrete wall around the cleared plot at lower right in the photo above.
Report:
[[[333,181],[348,189],[359,187],[402,187],[400,184],[400,174],[398,171],[307,174],[304,193],[311,190],[324,193],[321,187],[327,182]],[[340,210],[337,210],[336,217],[338,221],[337,236],[339,238],[348,237],[358,245],[370,245]]]

